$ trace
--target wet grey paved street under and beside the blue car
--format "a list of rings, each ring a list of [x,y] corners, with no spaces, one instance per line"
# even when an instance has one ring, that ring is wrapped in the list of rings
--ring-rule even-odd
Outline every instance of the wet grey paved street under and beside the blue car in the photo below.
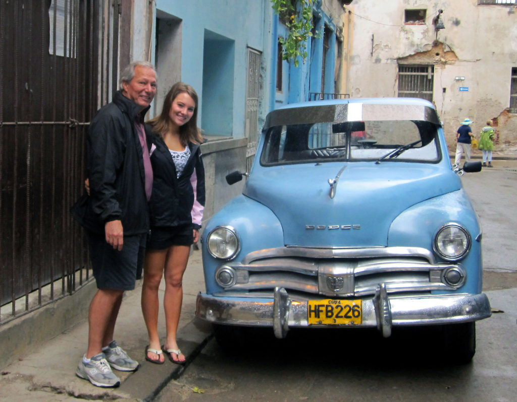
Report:
[[[462,182],[483,227],[485,291],[499,312],[477,324],[472,364],[451,366],[432,335],[369,331],[270,332],[227,353],[211,340],[183,376],[160,393],[165,401],[513,401],[517,393],[517,163],[467,173]]]

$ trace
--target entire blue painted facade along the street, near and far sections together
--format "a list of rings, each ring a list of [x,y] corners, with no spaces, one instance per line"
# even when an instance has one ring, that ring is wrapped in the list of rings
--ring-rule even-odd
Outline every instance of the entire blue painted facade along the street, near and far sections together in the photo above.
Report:
[[[247,46],[262,52],[260,122],[270,110],[320,92],[322,35],[309,38],[309,57],[305,62],[300,59],[297,68],[293,61],[282,62],[282,90],[277,91],[277,43],[286,27],[273,13],[270,0],[157,0],[156,7],[161,16],[181,21],[181,81],[200,95],[199,118],[205,134],[244,136]],[[315,2],[313,13],[316,30],[322,33],[325,26],[331,31],[324,91],[333,92],[336,27],[320,2]],[[208,100],[210,105],[203,107]]]

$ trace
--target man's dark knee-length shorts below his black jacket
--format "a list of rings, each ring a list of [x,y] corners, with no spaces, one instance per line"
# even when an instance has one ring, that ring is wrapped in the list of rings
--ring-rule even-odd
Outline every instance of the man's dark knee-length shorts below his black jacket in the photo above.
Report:
[[[131,291],[142,278],[147,234],[124,236],[122,250],[115,250],[104,235],[88,232],[94,277],[99,289]]]

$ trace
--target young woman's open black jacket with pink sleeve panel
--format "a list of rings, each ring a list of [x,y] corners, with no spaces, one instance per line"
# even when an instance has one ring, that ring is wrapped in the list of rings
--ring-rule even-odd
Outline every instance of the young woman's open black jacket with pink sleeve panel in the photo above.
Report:
[[[201,228],[205,205],[205,169],[199,144],[189,143],[190,157],[183,173],[176,178],[176,167],[168,147],[155,136],[151,152],[153,194],[150,200],[151,228],[191,224]]]

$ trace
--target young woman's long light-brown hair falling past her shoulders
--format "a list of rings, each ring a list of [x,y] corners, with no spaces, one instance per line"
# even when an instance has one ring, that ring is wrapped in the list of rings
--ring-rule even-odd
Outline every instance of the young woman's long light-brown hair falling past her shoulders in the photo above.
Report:
[[[176,97],[183,92],[188,93],[195,104],[194,112],[190,120],[179,127],[179,140],[181,144],[186,147],[189,142],[194,144],[203,142],[201,130],[197,127],[197,93],[190,85],[182,82],[174,84],[171,90],[165,95],[161,113],[154,119],[149,120],[148,123],[153,127],[153,131],[161,135],[162,138],[166,133],[170,132],[172,130],[172,122],[169,112],[171,111],[172,103]]]

